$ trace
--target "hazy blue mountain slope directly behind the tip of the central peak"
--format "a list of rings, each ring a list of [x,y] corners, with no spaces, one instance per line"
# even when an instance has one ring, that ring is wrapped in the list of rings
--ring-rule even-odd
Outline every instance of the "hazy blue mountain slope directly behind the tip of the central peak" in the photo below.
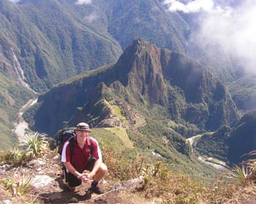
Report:
[[[133,39],[143,38],[158,47],[185,50],[189,25],[159,0],[116,1],[109,19],[108,31],[123,49]]]

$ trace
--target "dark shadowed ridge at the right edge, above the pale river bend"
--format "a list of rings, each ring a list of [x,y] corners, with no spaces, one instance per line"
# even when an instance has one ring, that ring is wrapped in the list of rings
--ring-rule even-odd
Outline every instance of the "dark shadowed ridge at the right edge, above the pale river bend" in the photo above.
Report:
[[[239,163],[249,158],[255,150],[256,111],[247,112],[233,127],[220,127],[213,135],[205,135],[197,142],[197,151],[230,163]]]

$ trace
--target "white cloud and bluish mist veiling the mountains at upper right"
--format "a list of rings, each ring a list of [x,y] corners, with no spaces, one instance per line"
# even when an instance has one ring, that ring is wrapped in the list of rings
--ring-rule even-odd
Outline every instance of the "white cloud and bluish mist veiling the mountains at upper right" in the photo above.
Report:
[[[248,89],[254,84],[250,76],[255,75],[255,1],[163,2],[170,12],[178,12],[192,29],[187,55],[199,60],[203,67],[230,87],[239,109],[255,109],[244,99],[238,99],[248,98],[255,102],[255,87],[251,92]],[[236,92],[231,91],[234,89],[232,85],[236,84],[243,86],[236,86]]]

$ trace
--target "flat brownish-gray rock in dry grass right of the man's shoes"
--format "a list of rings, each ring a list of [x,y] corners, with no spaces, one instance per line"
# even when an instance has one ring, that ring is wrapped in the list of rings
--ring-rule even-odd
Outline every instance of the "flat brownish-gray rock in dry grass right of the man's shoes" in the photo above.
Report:
[[[113,190],[135,190],[140,189],[144,185],[143,176],[133,178],[129,181],[122,181],[113,185]]]

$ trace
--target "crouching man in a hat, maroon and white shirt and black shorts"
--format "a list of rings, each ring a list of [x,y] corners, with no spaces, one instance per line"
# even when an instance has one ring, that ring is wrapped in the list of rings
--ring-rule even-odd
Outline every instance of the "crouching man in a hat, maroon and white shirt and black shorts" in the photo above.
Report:
[[[102,162],[102,154],[98,142],[89,137],[89,125],[80,122],[75,129],[75,143],[70,152],[70,143],[64,143],[61,162],[64,162],[65,177],[70,190],[74,191],[83,182],[91,182],[91,192],[102,194],[98,182],[108,172],[108,168]],[[83,173],[83,170],[89,170],[90,173]],[[93,179],[93,181],[92,181]]]

